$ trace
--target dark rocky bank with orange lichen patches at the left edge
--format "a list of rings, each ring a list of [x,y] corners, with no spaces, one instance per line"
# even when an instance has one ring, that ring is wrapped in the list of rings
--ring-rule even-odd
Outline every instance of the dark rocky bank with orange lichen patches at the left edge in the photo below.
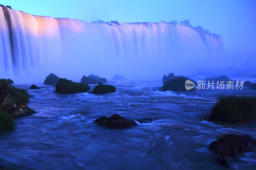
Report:
[[[29,115],[35,111],[25,104],[29,102],[26,90],[14,88],[6,81],[0,81],[0,111],[6,111],[11,116]]]

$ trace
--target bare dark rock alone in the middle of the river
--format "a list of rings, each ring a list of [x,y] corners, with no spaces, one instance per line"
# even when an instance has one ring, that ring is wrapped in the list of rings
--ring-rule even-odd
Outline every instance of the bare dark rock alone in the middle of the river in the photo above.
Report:
[[[129,126],[137,125],[136,122],[125,119],[120,115],[112,115],[111,117],[102,116],[95,120],[94,123],[98,123],[100,126],[107,126],[111,128],[125,128]]]

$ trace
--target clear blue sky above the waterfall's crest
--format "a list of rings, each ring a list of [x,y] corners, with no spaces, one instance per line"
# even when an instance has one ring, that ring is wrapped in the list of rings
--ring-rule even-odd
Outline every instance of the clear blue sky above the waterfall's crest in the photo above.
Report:
[[[255,0],[0,0],[0,4],[34,15],[119,22],[189,19],[220,34],[227,52],[255,55]]]

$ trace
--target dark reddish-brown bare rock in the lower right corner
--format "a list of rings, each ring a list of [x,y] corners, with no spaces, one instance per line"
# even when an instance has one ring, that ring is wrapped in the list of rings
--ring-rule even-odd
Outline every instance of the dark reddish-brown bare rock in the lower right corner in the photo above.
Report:
[[[244,152],[256,151],[256,140],[250,135],[226,135],[209,145],[210,150],[216,153],[216,159],[220,165],[229,166],[230,161]]]

